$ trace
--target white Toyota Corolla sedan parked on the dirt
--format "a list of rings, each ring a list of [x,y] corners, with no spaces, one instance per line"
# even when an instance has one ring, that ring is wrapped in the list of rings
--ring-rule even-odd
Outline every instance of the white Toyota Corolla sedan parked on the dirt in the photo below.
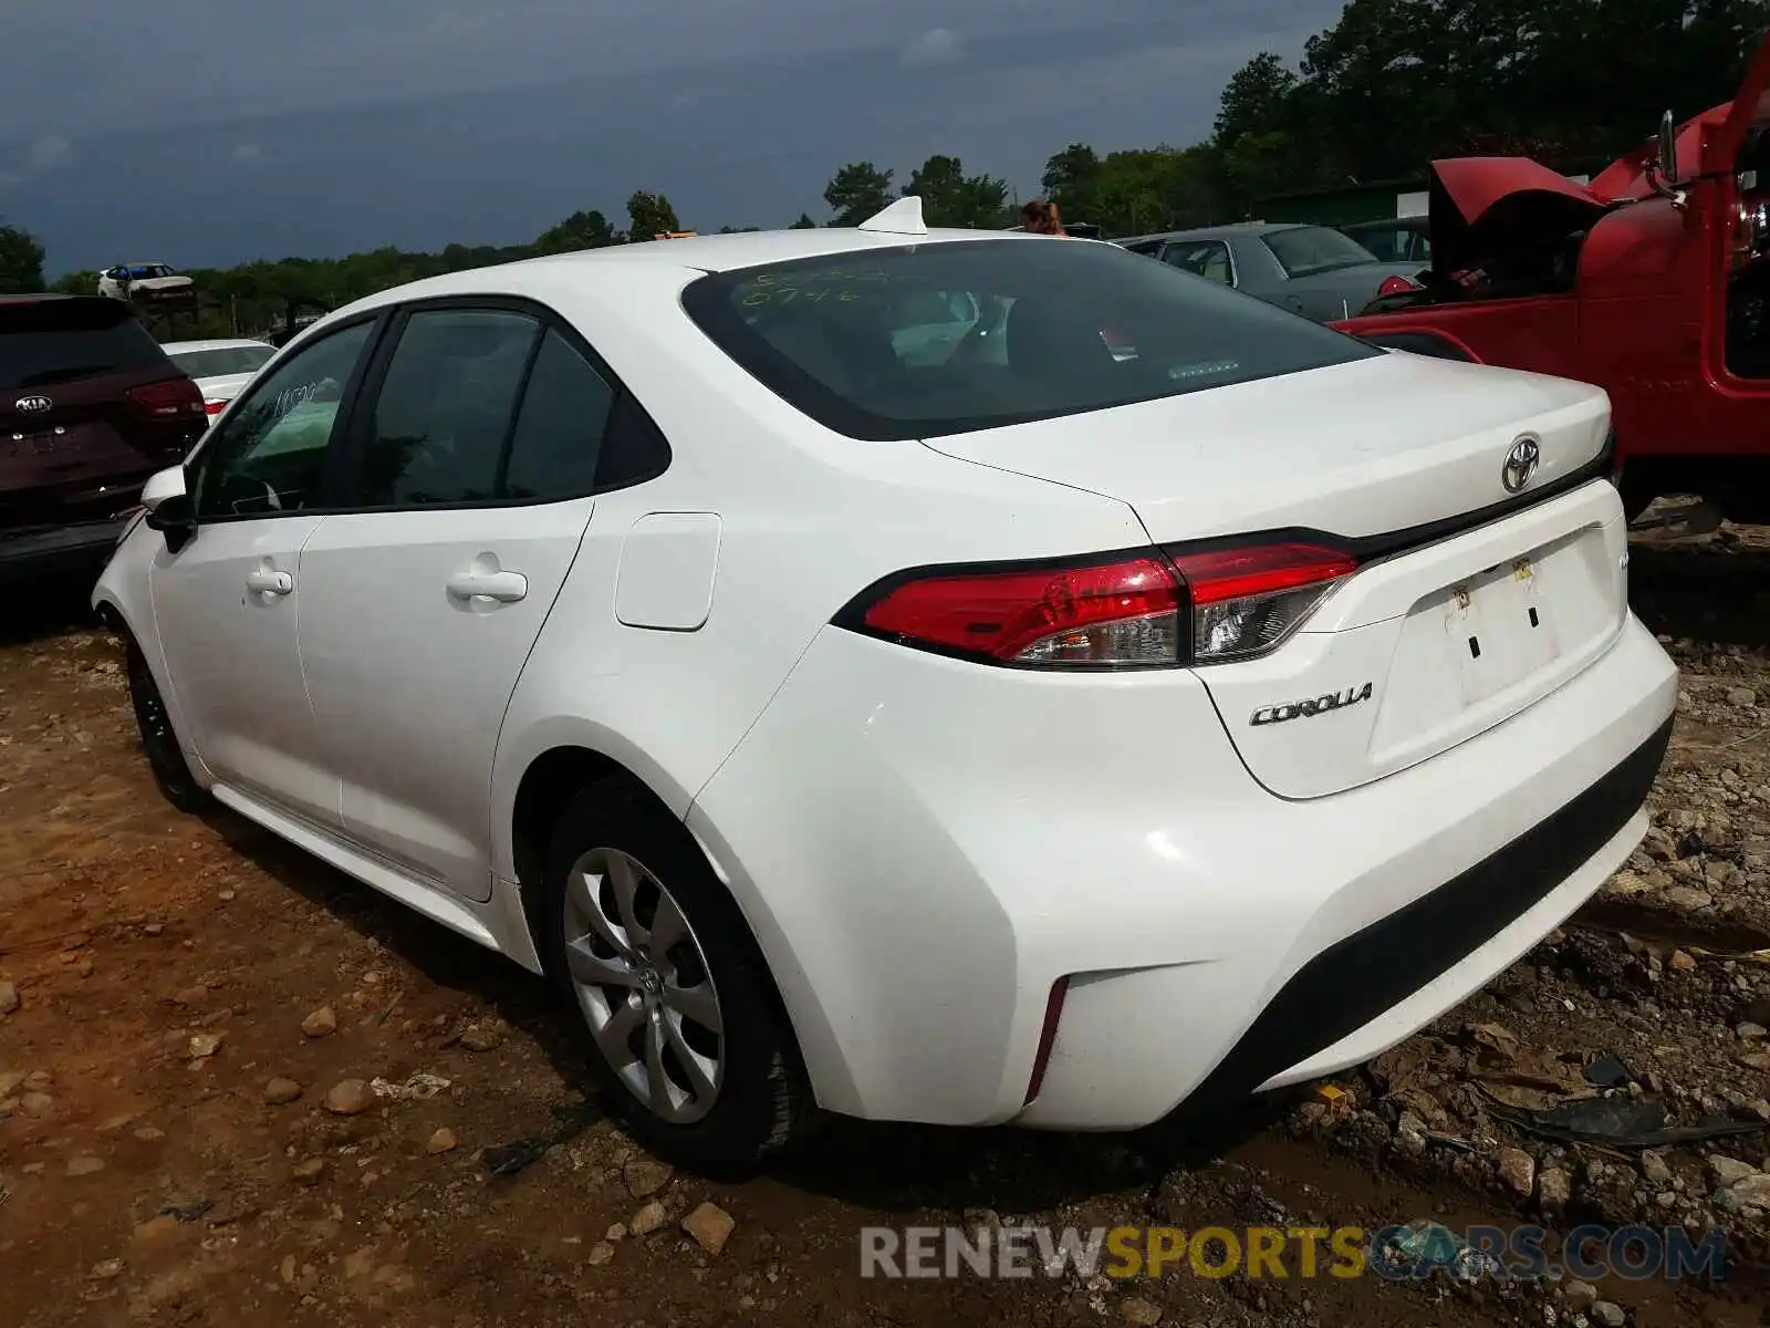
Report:
[[[179,807],[545,972],[660,1151],[1119,1130],[1363,1062],[1643,838],[1611,466],[1595,388],[904,200],[338,310],[96,606]]]

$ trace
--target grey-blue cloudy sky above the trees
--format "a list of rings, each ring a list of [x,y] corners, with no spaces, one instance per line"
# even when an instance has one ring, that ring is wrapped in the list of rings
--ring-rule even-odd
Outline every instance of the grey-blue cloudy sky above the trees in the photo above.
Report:
[[[634,189],[689,227],[931,152],[1037,189],[1202,136],[1340,0],[0,0],[0,218],[53,273],[533,239]]]

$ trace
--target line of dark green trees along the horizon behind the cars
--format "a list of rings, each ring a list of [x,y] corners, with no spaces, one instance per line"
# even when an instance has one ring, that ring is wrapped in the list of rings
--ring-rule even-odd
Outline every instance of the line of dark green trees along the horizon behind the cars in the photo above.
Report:
[[[1351,0],[1299,62],[1260,51],[1235,71],[1202,142],[1104,154],[1071,143],[1041,186],[1066,220],[1129,235],[1243,218],[1274,195],[1418,177],[1439,156],[1609,159],[1646,140],[1666,108],[1683,119],[1731,99],[1766,21],[1763,0]],[[823,225],[855,225],[904,195],[922,198],[929,225],[1016,221],[1005,179],[936,154],[901,182],[873,161],[841,166],[823,189]],[[205,301],[191,335],[258,331],[294,308],[423,276],[683,228],[667,197],[643,189],[627,220],[620,230],[588,209],[529,244],[188,269]],[[820,223],[802,212],[793,225]],[[0,225],[0,292],[44,289],[42,262],[34,237]],[[69,273],[53,289],[83,294],[96,282]]]

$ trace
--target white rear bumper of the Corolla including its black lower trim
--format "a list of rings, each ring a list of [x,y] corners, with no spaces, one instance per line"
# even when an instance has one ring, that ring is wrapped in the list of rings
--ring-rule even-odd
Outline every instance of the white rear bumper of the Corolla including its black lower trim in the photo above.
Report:
[[[1676,687],[1630,616],[1524,714],[1287,802],[1193,675],[979,669],[830,629],[689,827],[825,1107],[1138,1128],[1358,1064],[1528,953],[1641,839]]]

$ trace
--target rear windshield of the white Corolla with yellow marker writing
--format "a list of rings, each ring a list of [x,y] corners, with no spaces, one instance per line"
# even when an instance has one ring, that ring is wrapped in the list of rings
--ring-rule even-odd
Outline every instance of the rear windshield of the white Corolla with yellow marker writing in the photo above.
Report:
[[[1113,244],[991,239],[713,273],[683,308],[850,437],[912,439],[1381,354]]]

